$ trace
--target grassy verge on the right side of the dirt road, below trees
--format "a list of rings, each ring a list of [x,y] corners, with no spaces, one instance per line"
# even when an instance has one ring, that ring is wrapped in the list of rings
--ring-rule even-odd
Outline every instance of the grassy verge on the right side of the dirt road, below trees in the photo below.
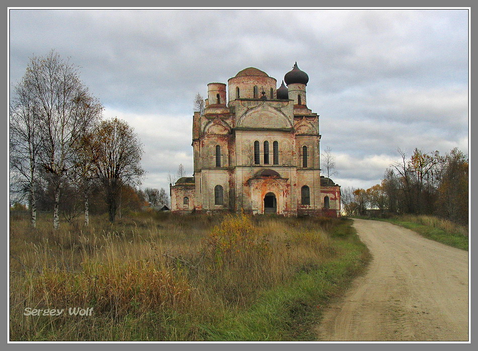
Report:
[[[354,217],[366,220],[382,221],[413,230],[427,239],[468,251],[468,231],[449,221],[431,216],[404,215],[395,218]]]

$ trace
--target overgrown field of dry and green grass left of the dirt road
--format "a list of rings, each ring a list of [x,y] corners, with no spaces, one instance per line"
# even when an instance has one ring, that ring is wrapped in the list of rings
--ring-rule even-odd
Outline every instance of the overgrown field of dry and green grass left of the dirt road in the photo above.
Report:
[[[368,259],[350,223],[137,213],[54,231],[12,212],[10,339],[313,339],[322,304]]]

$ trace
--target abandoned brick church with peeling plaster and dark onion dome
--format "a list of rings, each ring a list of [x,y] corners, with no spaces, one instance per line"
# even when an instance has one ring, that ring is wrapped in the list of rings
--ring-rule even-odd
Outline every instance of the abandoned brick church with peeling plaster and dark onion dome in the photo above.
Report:
[[[171,209],[340,216],[340,186],[321,176],[308,80],[295,63],[279,88],[253,67],[227,87],[209,83],[204,113],[193,116],[194,174],[170,184]]]

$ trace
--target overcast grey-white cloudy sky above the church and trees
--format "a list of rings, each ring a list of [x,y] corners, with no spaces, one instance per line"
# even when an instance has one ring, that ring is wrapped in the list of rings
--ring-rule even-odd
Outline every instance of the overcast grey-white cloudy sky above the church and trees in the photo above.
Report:
[[[368,188],[397,148],[468,153],[467,10],[10,10],[10,80],[51,49],[80,67],[104,117],[144,144],[142,187],[192,175],[194,96],[246,67],[297,61],[342,186]]]

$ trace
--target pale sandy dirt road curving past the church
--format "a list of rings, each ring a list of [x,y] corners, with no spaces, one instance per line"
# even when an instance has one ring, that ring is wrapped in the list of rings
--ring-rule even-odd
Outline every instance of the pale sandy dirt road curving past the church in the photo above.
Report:
[[[327,308],[318,340],[468,340],[468,252],[385,222],[354,220],[373,258]]]

